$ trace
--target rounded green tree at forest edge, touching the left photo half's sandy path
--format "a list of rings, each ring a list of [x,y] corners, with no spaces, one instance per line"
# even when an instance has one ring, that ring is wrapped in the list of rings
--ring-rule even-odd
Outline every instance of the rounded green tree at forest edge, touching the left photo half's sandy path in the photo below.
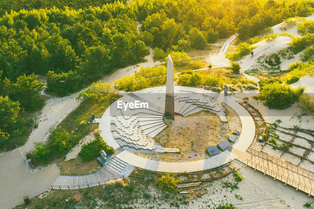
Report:
[[[36,81],[37,76],[34,73],[29,76],[21,75],[17,78],[17,82],[12,84],[12,98],[18,100],[23,107],[33,107],[43,103],[40,99],[39,93],[43,90],[42,80]]]

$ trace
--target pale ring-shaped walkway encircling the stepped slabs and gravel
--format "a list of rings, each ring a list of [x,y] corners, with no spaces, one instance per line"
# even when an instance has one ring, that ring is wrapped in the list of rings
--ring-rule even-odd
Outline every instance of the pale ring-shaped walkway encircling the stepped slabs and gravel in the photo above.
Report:
[[[141,92],[154,92],[157,89],[165,88],[165,87],[153,87],[141,90]],[[187,90],[194,91],[196,93],[212,93],[211,91],[199,89],[199,88],[191,88],[191,87],[181,87],[175,86],[175,91],[177,90]],[[187,172],[196,172],[206,169],[212,169],[225,163],[230,162],[235,158],[238,158],[246,149],[251,145],[254,136],[255,136],[255,124],[251,117],[251,115],[241,106],[239,105],[236,100],[237,98],[233,96],[224,96],[224,93],[217,94],[215,99],[218,102],[224,102],[225,104],[229,105],[236,113],[239,115],[242,123],[242,132],[239,139],[236,143],[231,146],[228,150],[214,156],[211,158],[206,158],[202,160],[192,161],[192,162],[182,162],[182,163],[169,163],[169,162],[160,162],[149,160],[147,158],[139,157],[133,153],[128,152],[127,150],[122,151],[121,153],[117,154],[116,157],[120,160],[134,165],[139,168],[148,169],[152,171],[159,171],[159,172],[171,172],[171,173],[183,173]],[[112,105],[105,111],[103,116],[101,117],[99,130],[100,136],[105,140],[105,142],[117,149],[121,147],[117,142],[116,139],[113,137],[111,133],[111,118],[110,115],[110,108],[114,108]],[[120,148],[121,149],[121,148]]]

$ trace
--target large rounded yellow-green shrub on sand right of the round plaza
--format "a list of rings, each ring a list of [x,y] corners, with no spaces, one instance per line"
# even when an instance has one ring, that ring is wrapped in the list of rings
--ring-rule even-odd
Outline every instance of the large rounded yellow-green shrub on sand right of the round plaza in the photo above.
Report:
[[[258,98],[264,100],[263,104],[269,109],[283,110],[290,107],[302,95],[304,87],[296,89],[278,81],[260,82]]]

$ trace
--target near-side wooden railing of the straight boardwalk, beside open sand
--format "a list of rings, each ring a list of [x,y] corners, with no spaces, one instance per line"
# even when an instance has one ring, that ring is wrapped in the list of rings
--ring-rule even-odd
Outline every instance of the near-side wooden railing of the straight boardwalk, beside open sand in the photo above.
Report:
[[[267,174],[267,175],[273,177],[274,180],[277,179],[279,181],[284,182],[285,183],[284,185],[288,184],[288,185],[290,185],[292,187],[295,187],[296,190],[301,190],[301,191],[309,194],[308,196],[310,196],[310,195],[314,196],[313,188],[308,186],[308,185],[306,185],[306,184],[301,183],[300,181],[297,181],[297,180],[292,179],[292,178],[290,178],[288,176],[285,176],[284,174],[278,173],[278,172],[276,172],[276,171],[274,171],[272,169],[269,169],[269,168],[267,168],[267,167],[265,167],[263,165],[255,163],[255,162],[253,162],[252,160],[249,160],[249,159],[246,162],[246,166],[247,165],[252,167],[252,168],[254,168],[254,170],[259,170],[259,171],[263,172],[264,175]]]

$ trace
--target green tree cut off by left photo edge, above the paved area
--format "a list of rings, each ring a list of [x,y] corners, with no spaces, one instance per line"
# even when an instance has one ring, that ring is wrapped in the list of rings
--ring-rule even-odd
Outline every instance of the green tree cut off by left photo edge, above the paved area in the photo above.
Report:
[[[12,128],[15,119],[19,114],[19,102],[14,102],[8,96],[0,96],[0,129],[8,130]],[[11,128],[10,128],[11,127]]]

